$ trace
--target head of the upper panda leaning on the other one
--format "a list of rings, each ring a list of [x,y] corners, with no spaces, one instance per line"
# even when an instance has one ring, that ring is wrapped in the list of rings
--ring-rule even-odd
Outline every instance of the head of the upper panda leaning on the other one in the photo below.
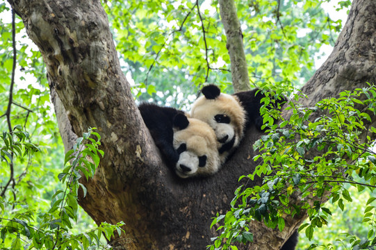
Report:
[[[202,94],[204,96],[193,103],[190,116],[213,128],[221,144],[219,153],[227,156],[243,138],[246,112],[236,96],[221,93],[215,85],[206,85],[202,88]]]

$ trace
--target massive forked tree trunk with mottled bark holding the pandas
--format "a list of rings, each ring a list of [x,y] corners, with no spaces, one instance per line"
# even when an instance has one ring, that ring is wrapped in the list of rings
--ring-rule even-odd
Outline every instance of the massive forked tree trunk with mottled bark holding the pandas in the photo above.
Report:
[[[211,217],[229,209],[238,177],[256,166],[252,144],[261,133],[247,131],[240,149],[215,176],[175,178],[131,97],[99,1],[8,1],[47,65],[66,149],[90,126],[101,134],[105,157],[84,183],[88,194],[81,206],[97,223],[126,223],[126,234],[115,242],[118,249],[205,249],[213,237]],[[303,88],[309,96],[305,105],[375,83],[375,19],[374,0],[354,0],[334,52]],[[245,248],[278,249],[305,216],[287,217],[282,233],[252,224],[255,242]]]

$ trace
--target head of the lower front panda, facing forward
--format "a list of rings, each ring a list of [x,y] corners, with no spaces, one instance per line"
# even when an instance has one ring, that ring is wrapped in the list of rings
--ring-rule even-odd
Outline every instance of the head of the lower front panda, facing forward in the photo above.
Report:
[[[220,168],[218,142],[208,124],[183,114],[176,115],[173,143],[179,154],[175,166],[179,177],[209,176]]]

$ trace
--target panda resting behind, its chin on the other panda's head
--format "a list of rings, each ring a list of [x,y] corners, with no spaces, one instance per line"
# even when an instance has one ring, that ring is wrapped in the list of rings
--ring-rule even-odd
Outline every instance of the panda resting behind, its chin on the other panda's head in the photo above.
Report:
[[[219,153],[223,162],[238,147],[246,128],[254,125],[262,131],[260,108],[265,94],[258,89],[224,94],[215,85],[206,85],[201,91],[203,96],[193,103],[190,117],[200,119],[213,128],[221,143]],[[285,100],[277,100],[277,103],[282,101]]]

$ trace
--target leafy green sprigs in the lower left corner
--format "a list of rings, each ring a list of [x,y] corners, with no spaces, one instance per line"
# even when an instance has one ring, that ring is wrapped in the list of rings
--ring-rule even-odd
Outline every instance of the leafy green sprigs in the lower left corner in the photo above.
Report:
[[[33,155],[39,151],[35,145],[25,142],[28,133],[21,126],[15,128],[17,132],[4,132],[1,136],[1,161],[8,165],[13,164],[15,157]],[[85,233],[74,234],[71,230],[72,222],[77,222],[79,216],[79,189],[83,197],[86,194],[86,188],[79,183],[79,178],[81,174],[86,178],[92,177],[99,164],[99,155],[103,157],[104,154],[98,149],[99,140],[99,134],[90,130],[77,140],[74,149],[65,154],[65,167],[58,175],[65,188],[52,195],[50,208],[46,212],[37,213],[25,202],[0,197],[1,249],[90,249],[101,246],[101,235],[105,235],[107,240],[113,237],[114,231],[120,235],[120,226],[124,225],[122,222],[117,225],[102,223]]]

